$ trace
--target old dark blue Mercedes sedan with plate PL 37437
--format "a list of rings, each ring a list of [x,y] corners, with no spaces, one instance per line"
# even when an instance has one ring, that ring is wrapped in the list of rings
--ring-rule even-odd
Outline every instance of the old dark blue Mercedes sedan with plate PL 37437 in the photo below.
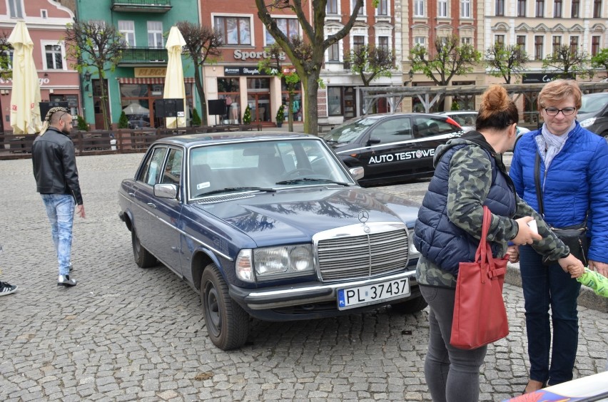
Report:
[[[156,141],[118,191],[139,267],[158,262],[201,297],[223,350],[250,318],[286,321],[426,303],[411,231],[418,205],[356,181],[325,140],[213,133]]]

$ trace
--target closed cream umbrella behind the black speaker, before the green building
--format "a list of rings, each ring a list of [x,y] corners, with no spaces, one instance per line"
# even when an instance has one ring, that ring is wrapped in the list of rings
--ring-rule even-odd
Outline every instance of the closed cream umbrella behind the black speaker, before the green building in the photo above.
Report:
[[[186,88],[183,86],[183,69],[181,66],[181,48],[186,46],[186,41],[177,26],[171,26],[167,38],[166,48],[169,55],[167,64],[167,75],[165,77],[165,99],[183,99],[183,110],[186,108]],[[186,127],[186,116],[178,118],[167,118],[167,128]]]

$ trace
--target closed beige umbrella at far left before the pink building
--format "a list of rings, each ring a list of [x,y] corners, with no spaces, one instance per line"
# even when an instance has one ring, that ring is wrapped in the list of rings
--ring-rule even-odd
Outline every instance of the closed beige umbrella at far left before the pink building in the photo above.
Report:
[[[11,90],[11,126],[15,134],[40,131],[40,81],[34,64],[34,42],[24,21],[17,21],[9,43],[13,53],[13,88]]]

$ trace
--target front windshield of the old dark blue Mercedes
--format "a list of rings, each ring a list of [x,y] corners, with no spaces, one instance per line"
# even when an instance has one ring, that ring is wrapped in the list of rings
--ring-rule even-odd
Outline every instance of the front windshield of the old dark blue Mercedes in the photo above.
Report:
[[[310,185],[353,185],[317,139],[205,145],[190,150],[188,198],[226,192],[275,191]]]

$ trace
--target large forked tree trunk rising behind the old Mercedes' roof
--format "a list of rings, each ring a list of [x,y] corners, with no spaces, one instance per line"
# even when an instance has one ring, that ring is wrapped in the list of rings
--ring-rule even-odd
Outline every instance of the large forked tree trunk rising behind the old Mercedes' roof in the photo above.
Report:
[[[304,91],[304,108],[306,119],[304,130],[306,133],[318,133],[317,91],[319,89],[320,71],[323,67],[325,50],[344,38],[355,24],[359,10],[363,7],[363,0],[355,0],[353,10],[346,24],[333,35],[325,38],[325,9],[327,0],[255,0],[258,8],[258,17],[265,25],[276,43],[289,57],[295,71],[302,80]],[[288,38],[279,29],[271,13],[276,10],[292,11],[298,18],[302,36]],[[308,21],[307,14],[310,13]]]

